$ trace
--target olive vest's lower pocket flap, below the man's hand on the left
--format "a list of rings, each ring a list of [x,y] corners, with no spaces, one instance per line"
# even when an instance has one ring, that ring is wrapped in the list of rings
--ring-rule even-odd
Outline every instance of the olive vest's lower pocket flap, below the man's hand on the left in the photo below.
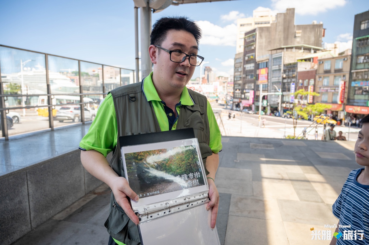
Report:
[[[114,206],[111,208],[108,219],[105,221],[105,227],[113,232],[114,234],[118,234],[123,228],[127,225],[130,218],[123,212],[123,209],[118,206],[114,201]]]

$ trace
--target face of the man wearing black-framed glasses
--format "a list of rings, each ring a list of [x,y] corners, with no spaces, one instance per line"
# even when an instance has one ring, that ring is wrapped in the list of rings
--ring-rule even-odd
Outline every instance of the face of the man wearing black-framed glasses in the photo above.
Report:
[[[197,55],[198,47],[195,37],[187,31],[170,30],[166,34],[165,40],[160,45],[169,50],[179,50],[187,55]],[[182,63],[175,63],[170,60],[169,53],[156,48],[156,60],[154,65],[154,73],[159,77],[159,81],[163,86],[182,89],[190,81],[195,66],[191,66],[188,57]]]

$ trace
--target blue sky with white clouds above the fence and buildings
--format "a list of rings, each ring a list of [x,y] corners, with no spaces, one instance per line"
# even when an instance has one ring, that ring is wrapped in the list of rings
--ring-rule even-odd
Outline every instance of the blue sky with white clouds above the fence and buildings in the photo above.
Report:
[[[237,18],[256,8],[284,13],[295,8],[295,24],[323,22],[323,43],[352,45],[355,14],[369,10],[368,0],[232,0],[169,6],[152,14],[185,15],[203,29],[199,55],[217,76],[233,75]],[[135,69],[133,0],[0,0],[0,44]],[[140,47],[140,46],[139,46]],[[141,50],[140,50],[141,51]],[[145,50],[145,52],[147,52]],[[203,71],[202,71],[203,72]],[[199,67],[193,78],[199,77]]]

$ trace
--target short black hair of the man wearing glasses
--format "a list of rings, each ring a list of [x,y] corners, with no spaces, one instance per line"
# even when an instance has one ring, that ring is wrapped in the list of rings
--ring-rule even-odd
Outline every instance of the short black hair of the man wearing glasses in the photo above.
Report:
[[[196,39],[197,46],[201,38],[201,29],[193,20],[184,16],[162,17],[152,26],[150,45],[160,46],[169,30],[190,32]]]

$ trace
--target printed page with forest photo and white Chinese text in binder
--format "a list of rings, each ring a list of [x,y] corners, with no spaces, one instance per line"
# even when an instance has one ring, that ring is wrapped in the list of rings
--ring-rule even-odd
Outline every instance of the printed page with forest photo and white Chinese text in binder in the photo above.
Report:
[[[132,208],[208,192],[196,138],[121,147]]]

